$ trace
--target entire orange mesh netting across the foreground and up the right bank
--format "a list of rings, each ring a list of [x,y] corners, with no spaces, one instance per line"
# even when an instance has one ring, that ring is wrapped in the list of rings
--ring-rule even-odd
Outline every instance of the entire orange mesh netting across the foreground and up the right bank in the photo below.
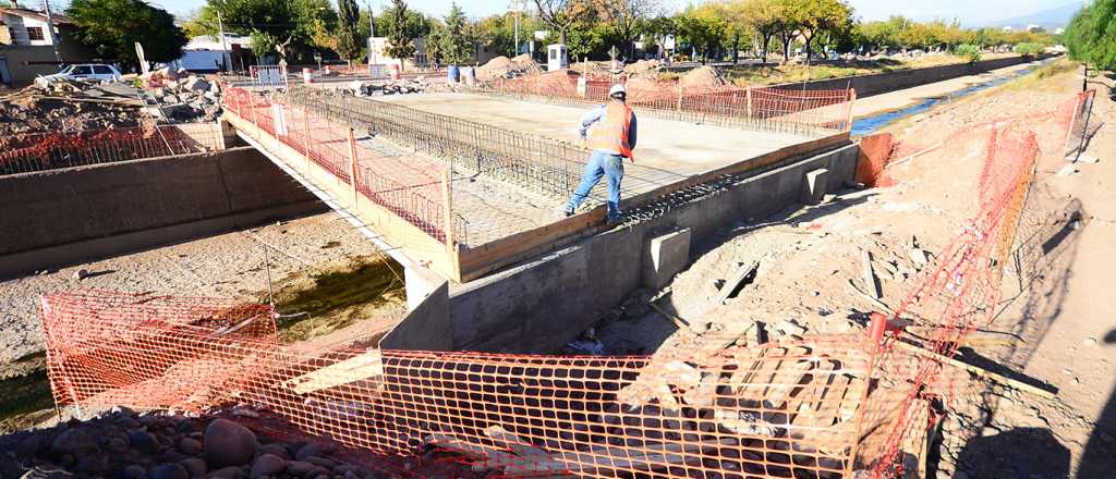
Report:
[[[943,149],[978,151],[975,213],[868,338],[650,356],[280,345],[269,306],[86,291],[41,299],[51,388],[81,407],[243,404],[395,476],[422,472],[392,458],[435,449],[508,477],[894,477],[949,394],[945,362],[997,312],[1040,151],[1024,124]]]

